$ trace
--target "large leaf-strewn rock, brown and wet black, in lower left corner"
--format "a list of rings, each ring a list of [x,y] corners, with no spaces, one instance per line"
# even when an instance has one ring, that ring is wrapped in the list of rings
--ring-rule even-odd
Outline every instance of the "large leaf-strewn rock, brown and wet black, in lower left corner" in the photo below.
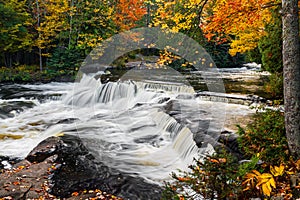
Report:
[[[0,174],[0,198],[27,199],[46,194],[68,198],[77,191],[100,189],[124,199],[160,199],[162,192],[156,184],[96,160],[77,136],[49,137],[14,167]],[[22,183],[9,184],[17,177]]]

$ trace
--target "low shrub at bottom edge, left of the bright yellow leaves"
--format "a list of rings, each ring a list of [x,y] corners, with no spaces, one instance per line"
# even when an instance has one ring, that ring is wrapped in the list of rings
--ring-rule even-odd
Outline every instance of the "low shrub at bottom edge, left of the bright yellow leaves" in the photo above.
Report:
[[[175,181],[166,183],[162,199],[245,199],[249,194],[243,193],[242,177],[255,168],[257,161],[253,157],[240,164],[225,150],[196,160],[189,172],[172,173]]]

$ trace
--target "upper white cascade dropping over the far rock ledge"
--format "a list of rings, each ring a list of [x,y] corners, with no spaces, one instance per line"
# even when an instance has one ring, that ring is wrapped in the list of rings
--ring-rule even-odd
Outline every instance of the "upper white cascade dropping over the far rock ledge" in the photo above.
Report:
[[[69,93],[64,102],[75,106],[89,106],[96,103],[112,103],[126,98],[128,102],[135,99],[142,102],[149,102],[159,96],[159,93],[190,93],[194,90],[186,85],[162,84],[158,82],[108,82],[102,84],[91,75],[83,75],[80,83],[74,86],[72,93]],[[137,103],[137,102],[134,102]]]

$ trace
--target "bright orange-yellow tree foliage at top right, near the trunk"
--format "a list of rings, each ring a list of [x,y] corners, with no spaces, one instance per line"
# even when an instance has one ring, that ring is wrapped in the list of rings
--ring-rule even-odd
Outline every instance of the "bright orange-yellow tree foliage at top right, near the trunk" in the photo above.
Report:
[[[201,27],[209,40],[231,41],[230,54],[257,47],[266,35],[265,24],[272,19],[270,7],[278,0],[216,0],[213,15],[203,13]]]

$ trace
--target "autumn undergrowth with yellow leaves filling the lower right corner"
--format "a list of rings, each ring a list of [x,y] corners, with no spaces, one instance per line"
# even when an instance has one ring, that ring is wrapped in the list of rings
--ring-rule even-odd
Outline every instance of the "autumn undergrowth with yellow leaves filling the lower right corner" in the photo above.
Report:
[[[190,171],[172,173],[162,199],[299,198],[300,160],[290,157],[283,113],[257,111],[238,132],[239,147],[250,160],[240,163],[225,150],[196,160]]]

